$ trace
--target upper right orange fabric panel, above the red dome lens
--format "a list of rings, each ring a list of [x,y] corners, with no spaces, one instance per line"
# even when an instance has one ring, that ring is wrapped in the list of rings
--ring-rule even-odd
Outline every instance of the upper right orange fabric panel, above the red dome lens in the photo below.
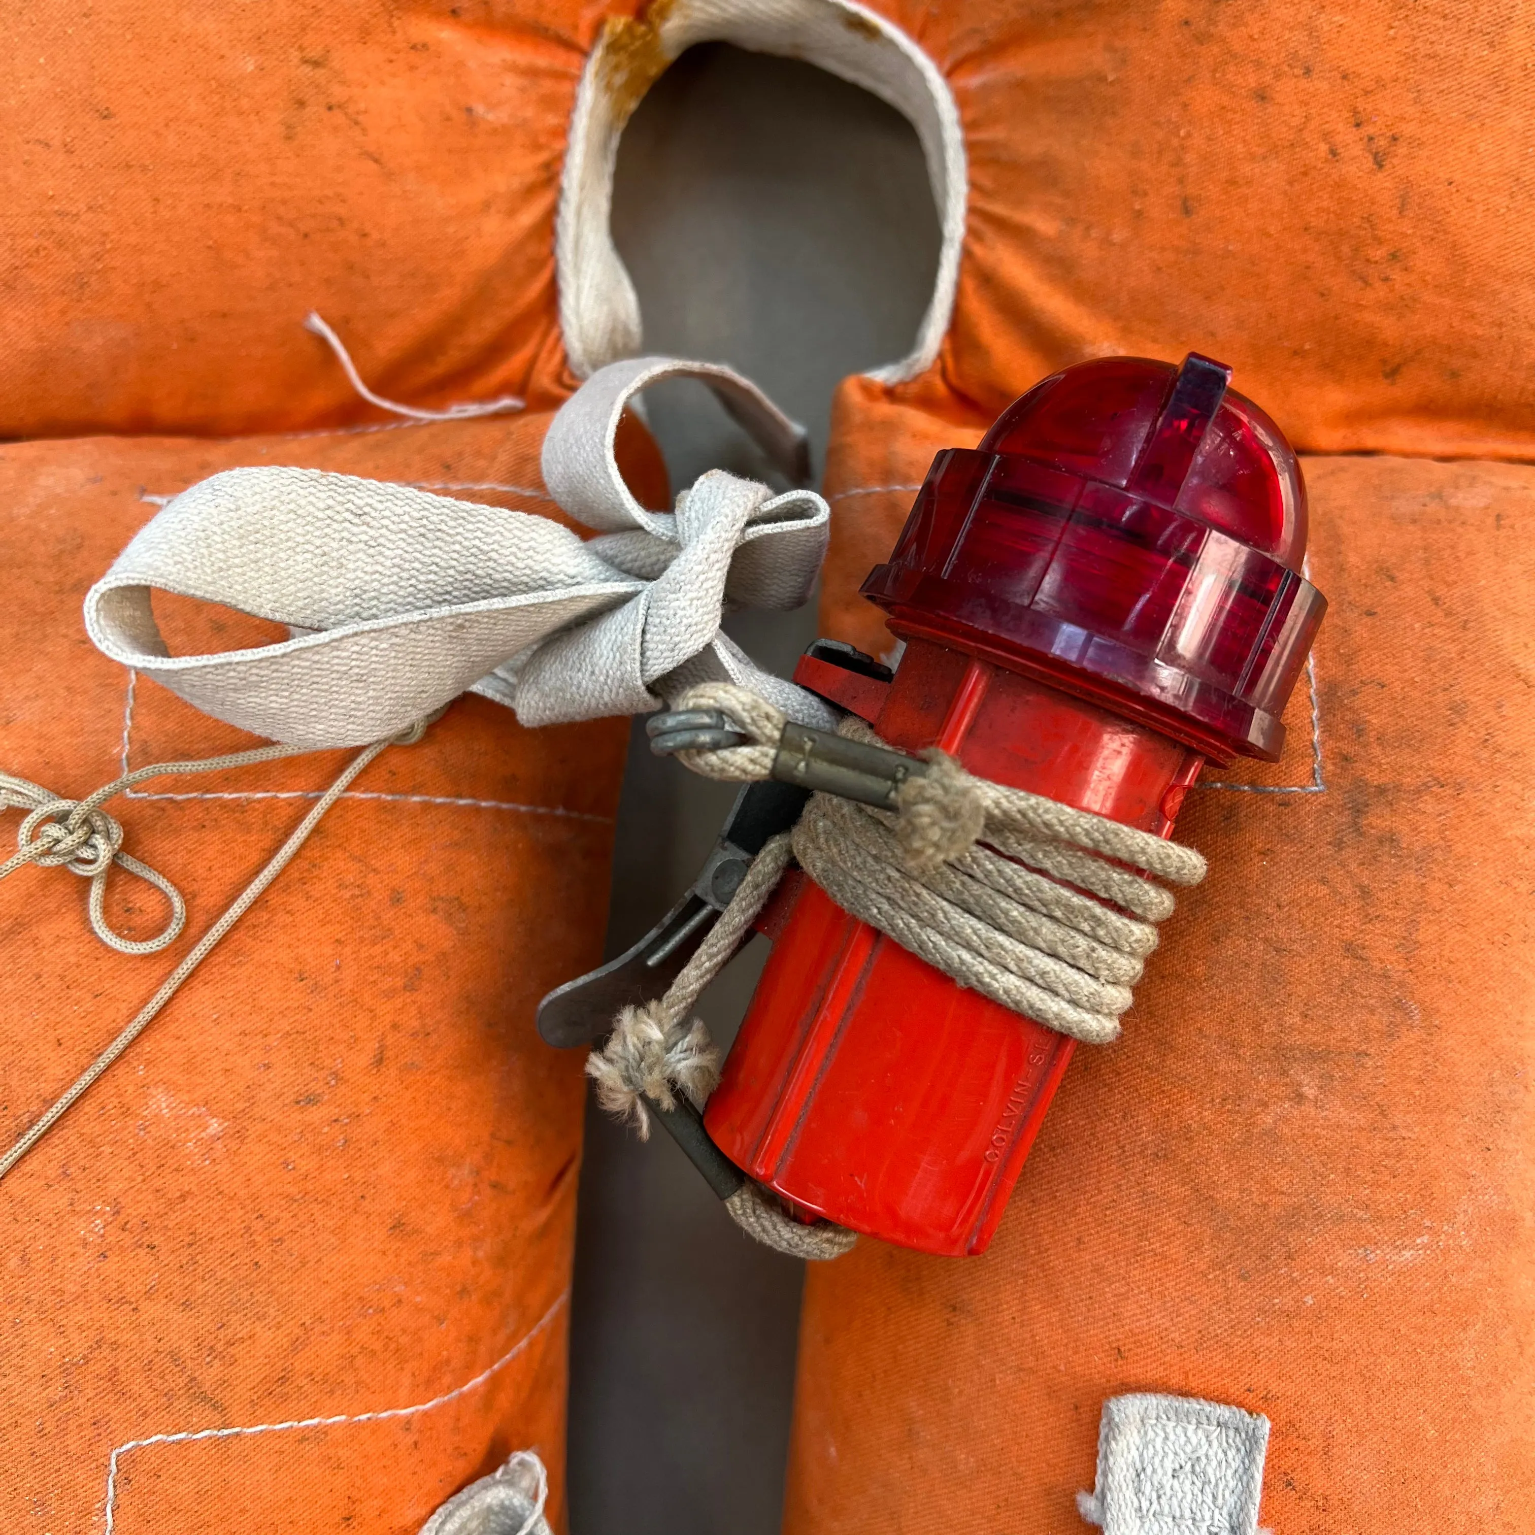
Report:
[[[875,3],[970,163],[910,402],[996,414],[1068,362],[1193,348],[1309,451],[1535,450],[1527,6]]]

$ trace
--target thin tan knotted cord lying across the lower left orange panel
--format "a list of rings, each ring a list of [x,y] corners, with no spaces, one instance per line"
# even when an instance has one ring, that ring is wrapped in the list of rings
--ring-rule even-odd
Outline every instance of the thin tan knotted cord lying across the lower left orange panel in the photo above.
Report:
[[[181,962],[166,976],[160,984],[155,995],[129,1019],[117,1038],[75,1078],[63,1093],[35,1119],[20,1136],[12,1142],[8,1151],[0,1156],[0,1179],[5,1179],[12,1168],[48,1134],[49,1130],[69,1110],[91,1090],[97,1079],[107,1071],[112,1064],[127,1050],[129,1045],[154,1022],[164,1005],[172,996],[181,989],[187,976],[218,947],[218,942],[224,935],[239,921],[246,912],[261,898],[261,893],[269,884],[292,863],[293,855],[309,841],[310,834],[324,820],[325,812],[345,794],[352,781],[371,763],[381,752],[387,751],[394,744],[410,744],[421,740],[425,731],[425,721],[411,726],[405,734],[394,737],[391,740],[375,741],[367,749],[358,752],[350,763],[338,774],[330,787],[315,801],[313,807],[304,817],[302,821],[293,829],[287,841],[267,860],[261,872],[255,876],[235,896],[235,900],[224,909],[218,921],[196,941],[196,944],[187,952]],[[130,784],[141,783],[146,778],[161,777],[164,774],[189,774],[189,772],[221,772],[229,768],[243,768],[258,761],[272,761],[278,757],[293,757],[298,754],[296,748],[292,746],[258,746],[249,752],[230,752],[223,757],[209,757],[203,761],[181,761],[181,763],[158,763],[150,768],[140,768],[135,772],[126,774],[124,777],[106,784],[106,787],[98,789],[95,794],[78,801],[78,807],[89,807],[87,815],[100,814],[100,806],[114,794],[120,794]],[[54,806],[66,806],[69,801],[54,801]],[[71,815],[60,810],[63,815],[61,823],[66,827],[71,823]],[[89,820],[84,823],[89,824]],[[118,861],[123,855],[118,852],[115,855]],[[20,867],[15,858],[9,860],[5,866],[3,873],[12,872],[12,866]],[[140,866],[143,867],[143,866]],[[157,881],[158,883],[158,881]],[[97,883],[92,884],[92,903],[95,903]],[[180,910],[180,896],[178,896]],[[92,926],[95,907],[92,906]],[[98,929],[100,932],[100,929]],[[123,944],[114,942],[114,949],[123,949]],[[160,947],[157,942],[155,947]],[[134,950],[126,950],[134,952]],[[146,952],[146,950],[140,950]]]

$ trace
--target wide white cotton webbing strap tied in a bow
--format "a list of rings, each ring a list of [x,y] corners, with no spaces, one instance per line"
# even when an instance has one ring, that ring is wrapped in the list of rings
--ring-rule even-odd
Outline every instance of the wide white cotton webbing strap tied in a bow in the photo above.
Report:
[[[771,453],[797,459],[800,428],[729,368],[617,362],[566,401],[543,447],[551,494],[599,537],[348,474],[227,470],[140,530],[86,596],[86,629],[203,712],[295,746],[381,740],[467,689],[551,725],[740,682],[827,725],[818,698],[720,632],[728,606],[797,608],[810,596],[826,502],[715,470],[675,511],[652,513],[623,484],[619,418],[646,384],[675,376],[701,378]],[[292,639],[170,655],[155,589],[286,623]]]

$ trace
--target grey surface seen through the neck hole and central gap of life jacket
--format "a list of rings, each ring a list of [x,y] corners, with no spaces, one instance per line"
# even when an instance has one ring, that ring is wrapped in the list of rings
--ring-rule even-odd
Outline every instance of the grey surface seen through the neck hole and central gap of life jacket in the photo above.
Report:
[[[731,362],[810,431],[817,473],[837,382],[906,355],[938,262],[938,215],[910,124],[809,64],[708,45],[625,130],[614,238],[645,348]],[[672,487],[708,468],[766,477],[692,384],[646,394]],[[774,671],[815,637],[814,605],[737,616]],[[608,953],[686,889],[732,792],[631,740]],[[732,1038],[761,942],[700,1012]],[[640,1144],[588,1108],[571,1342],[574,1535],[778,1529],[801,1265],[735,1230],[665,1136]]]

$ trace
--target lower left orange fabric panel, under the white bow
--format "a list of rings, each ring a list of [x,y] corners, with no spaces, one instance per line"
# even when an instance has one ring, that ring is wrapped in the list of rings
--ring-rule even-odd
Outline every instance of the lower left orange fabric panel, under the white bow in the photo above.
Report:
[[[124,757],[250,743],[147,680],[130,691],[86,640],[84,591],[155,511],[144,496],[272,462],[553,513],[546,421],[0,448],[0,764],[80,797]],[[654,464],[635,484],[663,494]],[[212,623],[238,643],[227,616]],[[111,1514],[124,1535],[414,1535],[530,1446],[557,1515],[583,1094],[579,1056],[537,1039],[533,1007],[599,958],[625,738],[620,720],[534,732],[464,698],[387,752],[0,1185],[6,1529]],[[152,781],[109,806],[127,850],[187,896],[164,953],[101,946],[66,870],[0,883],[3,1144],[348,755]],[[158,930],[157,893],[121,872],[112,892],[117,926]]]

